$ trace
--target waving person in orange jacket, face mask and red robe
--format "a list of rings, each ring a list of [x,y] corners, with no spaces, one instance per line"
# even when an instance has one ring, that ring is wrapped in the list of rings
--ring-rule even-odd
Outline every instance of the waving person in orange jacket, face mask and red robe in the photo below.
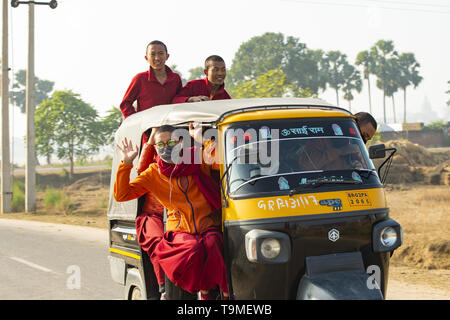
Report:
[[[166,232],[152,252],[167,277],[190,293],[200,291],[204,300],[212,299],[209,291],[219,286],[228,299],[219,186],[209,176],[209,166],[195,161],[195,147],[182,149],[180,141],[172,138],[174,130],[171,126],[156,130],[157,163],[131,182],[137,148],[126,139],[122,147],[117,145],[123,161],[117,171],[114,197],[128,201],[151,192],[168,209]],[[213,149],[215,145],[208,147]],[[177,163],[180,152],[187,153],[190,161]]]

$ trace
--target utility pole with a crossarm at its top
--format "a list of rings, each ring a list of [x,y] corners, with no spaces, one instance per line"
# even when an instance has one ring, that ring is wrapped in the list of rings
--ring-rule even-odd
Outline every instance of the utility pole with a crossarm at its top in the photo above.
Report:
[[[34,131],[35,84],[34,84],[34,5],[43,4],[55,9],[56,0],[50,2],[12,0],[11,6],[28,4],[28,63],[25,108],[27,113],[27,159],[25,163],[25,212],[36,211],[36,150]]]

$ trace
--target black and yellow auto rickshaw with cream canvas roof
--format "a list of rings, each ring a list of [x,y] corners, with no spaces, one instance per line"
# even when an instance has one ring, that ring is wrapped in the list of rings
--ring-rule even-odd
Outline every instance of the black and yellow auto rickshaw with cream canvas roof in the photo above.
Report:
[[[202,123],[205,139],[218,146],[231,299],[385,298],[389,259],[403,241],[380,179],[395,149],[368,152],[350,112],[312,98],[157,106],[128,117],[115,141],[140,145],[152,127],[190,122]],[[389,152],[377,171],[371,158]],[[120,157],[116,150],[108,207],[112,278],[124,285],[126,299],[159,299],[150,260],[136,241],[142,199],[112,196]],[[171,294],[195,298],[173,286]]]

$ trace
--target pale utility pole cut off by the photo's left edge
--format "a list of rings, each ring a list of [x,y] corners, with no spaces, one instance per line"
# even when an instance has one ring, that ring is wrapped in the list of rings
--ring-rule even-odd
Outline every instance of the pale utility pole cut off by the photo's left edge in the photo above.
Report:
[[[2,6],[2,164],[1,213],[11,212],[11,164],[9,150],[9,61],[8,61],[8,0]]]

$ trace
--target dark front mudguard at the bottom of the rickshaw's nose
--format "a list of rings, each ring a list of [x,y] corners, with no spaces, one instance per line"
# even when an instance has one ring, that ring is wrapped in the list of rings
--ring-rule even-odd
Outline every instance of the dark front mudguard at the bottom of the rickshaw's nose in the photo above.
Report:
[[[365,272],[360,252],[306,258],[298,300],[382,300]]]

